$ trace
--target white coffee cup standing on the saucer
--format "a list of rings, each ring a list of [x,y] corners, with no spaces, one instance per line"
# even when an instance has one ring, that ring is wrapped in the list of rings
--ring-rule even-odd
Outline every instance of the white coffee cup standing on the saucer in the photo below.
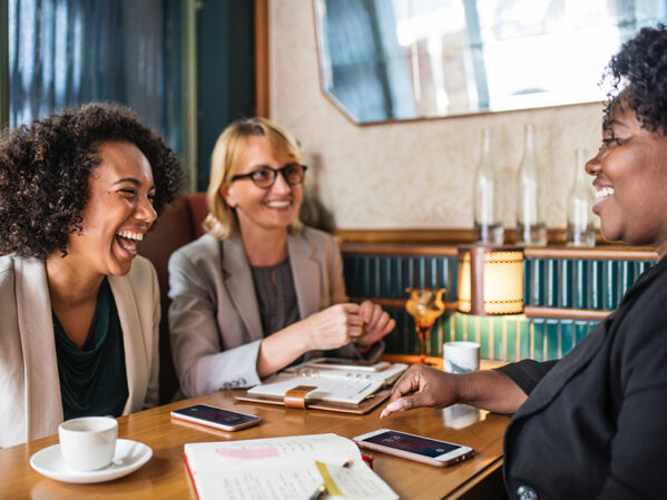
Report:
[[[111,463],[118,422],[111,416],[81,416],[58,425],[60,453],[73,470],[91,471]]]

